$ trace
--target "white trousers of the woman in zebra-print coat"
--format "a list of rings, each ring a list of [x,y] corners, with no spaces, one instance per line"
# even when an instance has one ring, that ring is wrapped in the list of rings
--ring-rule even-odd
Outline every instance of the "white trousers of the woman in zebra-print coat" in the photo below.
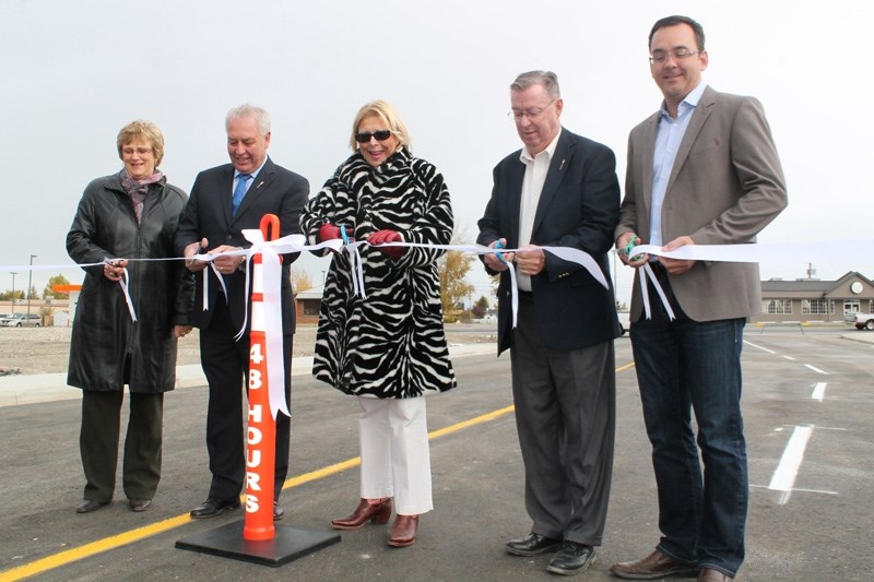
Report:
[[[402,515],[434,509],[425,399],[358,397],[362,498],[394,498]]]

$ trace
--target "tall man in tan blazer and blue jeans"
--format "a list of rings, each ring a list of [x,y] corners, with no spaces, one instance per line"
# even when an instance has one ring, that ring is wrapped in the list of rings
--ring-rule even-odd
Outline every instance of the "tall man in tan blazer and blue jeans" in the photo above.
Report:
[[[664,250],[754,242],[786,207],[782,169],[761,105],[702,82],[704,40],[692,19],[656,23],[651,73],[664,102],[628,139],[616,248],[626,264],[652,268],[676,319],[652,285],[652,317],[641,314],[636,277],[631,345],[662,537],[646,558],[613,565],[621,578],[697,573],[699,581],[731,580],[744,558],[748,484],[741,346],[746,318],[760,311],[758,266],[622,252],[631,241]]]

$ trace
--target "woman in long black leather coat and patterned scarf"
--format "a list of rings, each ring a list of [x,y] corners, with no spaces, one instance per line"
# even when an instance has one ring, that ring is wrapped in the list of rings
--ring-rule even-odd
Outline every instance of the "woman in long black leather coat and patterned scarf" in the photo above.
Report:
[[[191,331],[193,280],[182,261],[130,260],[175,257],[173,238],[188,195],[157,170],[164,138],[156,126],[133,121],[121,129],[117,145],[125,167],[85,188],[67,235],[75,262],[110,260],[83,268],[70,345],[67,383],[82,389],[79,442],[86,485],[79,513],[113,499],[125,384],[130,419],[123,490],[132,511],[151,504],[161,478],[164,392],[176,383],[176,341]]]

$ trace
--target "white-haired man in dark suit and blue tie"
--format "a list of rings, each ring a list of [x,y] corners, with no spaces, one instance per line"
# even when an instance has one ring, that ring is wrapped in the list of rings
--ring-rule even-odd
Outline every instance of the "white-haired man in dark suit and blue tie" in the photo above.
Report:
[[[280,218],[280,236],[299,233],[298,218],[309,195],[305,178],[273,163],[267,156],[270,145],[270,117],[259,107],[241,105],[227,114],[227,152],[231,164],[200,173],[191,188],[179,229],[178,252],[189,259],[191,271],[206,265],[191,260],[199,252],[218,253],[251,246],[244,229],[257,229],[264,214]],[[209,250],[208,250],[209,249]],[[290,269],[296,254],[284,256],[282,263],[282,330],[285,365],[285,397],[291,397],[292,338],[295,329],[294,297]],[[246,475],[243,442],[243,387],[249,369],[249,297],[241,257],[218,257],[215,266],[224,280],[227,299],[218,275],[208,270],[208,309],[203,310],[203,277],[198,276],[193,324],[200,329],[201,364],[210,385],[206,414],[206,449],[212,484],[206,500],[191,511],[192,518],[212,518],[225,509],[239,507]],[[235,338],[246,324],[246,333]],[[284,511],[279,504],[288,472],[290,419],[276,418],[274,519]]]

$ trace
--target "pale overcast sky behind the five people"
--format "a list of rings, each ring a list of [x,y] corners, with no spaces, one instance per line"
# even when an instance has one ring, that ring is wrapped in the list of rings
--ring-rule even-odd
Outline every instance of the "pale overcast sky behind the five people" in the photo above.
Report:
[[[243,8],[248,9],[244,12]],[[532,69],[558,74],[563,124],[616,153],[624,182],[631,127],[661,94],[649,74],[653,22],[685,14],[707,34],[704,79],[765,106],[789,185],[789,207],[761,241],[872,238],[874,80],[869,0],[640,2],[580,0],[0,0],[3,221],[0,266],[62,264],[82,190],[118,171],[115,139],[149,119],[165,135],[161,169],[188,191],[226,163],[224,115],[235,105],[273,118],[269,154],[318,191],[349,154],[350,124],[374,98],[391,102],[416,156],[444,174],[471,240],[492,168],[520,147],[508,85]],[[869,71],[865,73],[865,71]],[[315,282],[326,263],[299,261]],[[803,256],[763,277],[806,275]],[[853,249],[820,278],[874,277]],[[11,289],[12,269],[0,270]],[[480,274],[476,297],[488,292]],[[627,300],[631,273],[619,266]],[[60,270],[39,271],[43,289]],[[73,283],[83,272],[62,271]],[[26,286],[20,272],[15,286]]]

